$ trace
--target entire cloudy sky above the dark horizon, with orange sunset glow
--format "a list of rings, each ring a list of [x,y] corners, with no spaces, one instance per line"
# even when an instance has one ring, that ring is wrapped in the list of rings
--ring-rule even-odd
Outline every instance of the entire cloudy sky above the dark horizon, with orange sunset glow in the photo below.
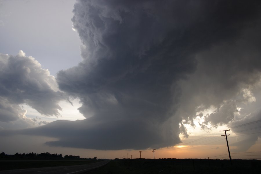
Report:
[[[1,0],[0,151],[261,159],[260,6]]]

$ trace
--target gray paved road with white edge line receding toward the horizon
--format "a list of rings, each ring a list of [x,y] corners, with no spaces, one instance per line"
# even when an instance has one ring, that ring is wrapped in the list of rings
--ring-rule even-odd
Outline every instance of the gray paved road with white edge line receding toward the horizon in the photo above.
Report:
[[[104,166],[110,162],[110,160],[104,160],[100,162],[75,165],[75,166],[58,166],[58,167],[43,167],[43,168],[28,168],[28,169],[17,169],[17,170],[6,170],[0,171],[0,174],[44,174],[44,173],[54,173],[54,174],[76,174],[82,173],[84,171],[91,170],[93,168],[98,168]]]

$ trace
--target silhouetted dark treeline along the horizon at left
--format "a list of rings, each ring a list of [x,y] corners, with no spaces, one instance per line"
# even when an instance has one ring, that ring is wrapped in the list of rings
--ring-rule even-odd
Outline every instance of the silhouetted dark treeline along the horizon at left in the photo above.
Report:
[[[70,159],[70,160],[87,160],[86,158],[80,158],[80,156],[75,156],[75,155],[65,155],[63,157],[63,155],[57,154],[57,153],[16,153],[14,155],[8,155],[5,154],[5,152],[0,153],[0,159],[10,159],[10,160],[14,160],[14,159],[39,159],[39,160],[63,160],[63,159]],[[94,158],[88,158],[88,160],[96,160],[97,157]]]

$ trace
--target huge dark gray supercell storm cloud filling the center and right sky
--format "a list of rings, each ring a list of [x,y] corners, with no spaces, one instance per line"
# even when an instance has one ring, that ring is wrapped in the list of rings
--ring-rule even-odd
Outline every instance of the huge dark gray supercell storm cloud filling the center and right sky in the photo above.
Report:
[[[182,120],[193,125],[198,115],[202,127],[247,121],[257,107],[237,113],[254,95],[258,102],[259,9],[259,1],[77,1],[83,61],[57,82],[79,97],[86,119],[22,133],[59,139],[50,146],[145,149],[179,143]]]

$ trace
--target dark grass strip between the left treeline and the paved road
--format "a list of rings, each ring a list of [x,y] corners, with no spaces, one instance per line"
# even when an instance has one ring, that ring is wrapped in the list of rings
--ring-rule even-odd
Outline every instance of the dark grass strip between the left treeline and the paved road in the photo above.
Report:
[[[72,166],[81,164],[90,164],[102,160],[80,160],[80,161],[4,161],[0,162],[0,170],[13,170],[24,168],[41,168],[41,167],[55,167],[55,166]]]

